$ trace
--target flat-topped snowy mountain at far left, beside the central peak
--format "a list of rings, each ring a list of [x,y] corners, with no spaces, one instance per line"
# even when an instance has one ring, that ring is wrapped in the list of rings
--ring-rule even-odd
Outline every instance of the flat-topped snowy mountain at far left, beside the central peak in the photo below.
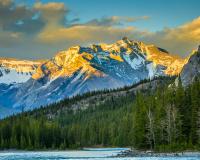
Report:
[[[44,60],[28,61],[0,58],[0,118],[2,115],[10,115],[17,111],[9,106],[10,104],[13,104],[14,101],[12,101],[12,103],[7,101],[7,99],[12,99],[15,92],[9,92],[9,94],[6,93],[8,91],[13,91],[19,84],[28,81],[42,63],[44,63]]]

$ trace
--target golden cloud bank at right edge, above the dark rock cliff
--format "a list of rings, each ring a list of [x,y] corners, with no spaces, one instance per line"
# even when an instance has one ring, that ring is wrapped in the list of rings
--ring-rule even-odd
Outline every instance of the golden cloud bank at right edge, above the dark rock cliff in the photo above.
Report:
[[[200,42],[200,17],[176,28],[164,28],[150,33],[143,40],[163,46],[174,53],[187,55]]]

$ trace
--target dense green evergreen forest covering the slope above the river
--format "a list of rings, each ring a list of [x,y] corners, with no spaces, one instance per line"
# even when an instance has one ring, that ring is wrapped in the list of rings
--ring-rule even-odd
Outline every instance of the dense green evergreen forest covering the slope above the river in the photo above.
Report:
[[[69,101],[62,101],[69,103]],[[58,109],[60,104],[50,108]],[[157,151],[200,148],[200,81],[184,88],[160,85],[75,113],[49,118],[48,108],[0,121],[1,149],[67,149],[91,146]]]

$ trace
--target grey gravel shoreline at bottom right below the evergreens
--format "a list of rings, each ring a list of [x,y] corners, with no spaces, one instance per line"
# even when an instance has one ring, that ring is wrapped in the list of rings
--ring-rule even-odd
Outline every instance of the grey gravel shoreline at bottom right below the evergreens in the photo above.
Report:
[[[159,153],[152,151],[126,150],[115,157],[200,157],[200,152],[184,151],[175,153]]]

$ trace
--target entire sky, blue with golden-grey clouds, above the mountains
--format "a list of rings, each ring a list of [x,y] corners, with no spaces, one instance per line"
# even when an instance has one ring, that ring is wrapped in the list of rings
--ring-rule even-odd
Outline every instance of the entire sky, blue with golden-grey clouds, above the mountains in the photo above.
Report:
[[[199,6],[199,0],[0,0],[0,57],[49,58],[71,45],[122,36],[186,56],[200,42]]]

